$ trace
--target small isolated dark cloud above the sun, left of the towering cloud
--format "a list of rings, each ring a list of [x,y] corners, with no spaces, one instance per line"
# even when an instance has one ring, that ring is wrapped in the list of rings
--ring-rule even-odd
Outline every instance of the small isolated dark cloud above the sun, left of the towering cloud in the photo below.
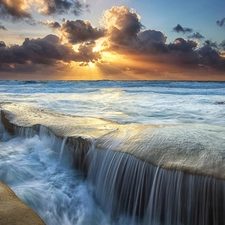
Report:
[[[92,27],[89,21],[67,20],[61,27],[62,36],[71,44],[96,40],[104,36],[104,30]]]

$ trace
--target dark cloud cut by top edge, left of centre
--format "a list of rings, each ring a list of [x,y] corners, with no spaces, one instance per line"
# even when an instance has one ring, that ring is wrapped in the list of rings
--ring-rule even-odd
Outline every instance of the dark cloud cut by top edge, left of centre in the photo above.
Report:
[[[45,7],[40,10],[42,14],[64,14],[71,12],[80,15],[83,11],[88,10],[88,5],[81,3],[78,0],[44,0]]]

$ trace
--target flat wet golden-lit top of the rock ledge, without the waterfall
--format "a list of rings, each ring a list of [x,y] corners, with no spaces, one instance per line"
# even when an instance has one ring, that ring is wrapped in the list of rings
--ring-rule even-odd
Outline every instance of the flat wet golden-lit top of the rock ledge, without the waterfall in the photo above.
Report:
[[[225,179],[223,127],[118,124],[16,104],[1,104],[1,109],[10,132],[13,126],[33,130],[44,126],[61,139],[67,137],[67,142],[80,138],[86,146],[94,143],[98,149],[124,152],[156,167]]]

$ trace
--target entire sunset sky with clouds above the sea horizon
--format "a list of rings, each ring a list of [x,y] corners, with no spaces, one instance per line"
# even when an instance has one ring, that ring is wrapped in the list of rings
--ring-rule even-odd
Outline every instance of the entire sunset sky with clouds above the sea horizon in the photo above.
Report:
[[[0,0],[1,80],[225,80],[224,0]]]

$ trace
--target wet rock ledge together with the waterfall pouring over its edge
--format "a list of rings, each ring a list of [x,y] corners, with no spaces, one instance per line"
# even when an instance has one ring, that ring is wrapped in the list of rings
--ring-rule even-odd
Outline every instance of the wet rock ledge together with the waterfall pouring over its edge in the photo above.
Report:
[[[117,124],[16,104],[1,104],[1,112],[11,133],[65,145],[60,154],[72,153],[115,220],[122,214],[132,224],[225,224],[225,128]]]

